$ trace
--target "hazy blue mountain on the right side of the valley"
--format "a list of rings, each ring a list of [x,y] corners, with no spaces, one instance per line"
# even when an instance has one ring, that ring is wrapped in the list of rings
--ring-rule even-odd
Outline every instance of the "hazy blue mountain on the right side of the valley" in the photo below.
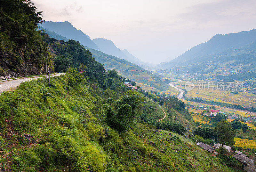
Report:
[[[240,56],[240,58],[243,56],[243,60],[252,56],[254,58],[255,54],[250,52],[253,46],[249,46],[254,41],[256,41],[256,29],[225,35],[216,34],[209,41],[191,48],[179,57],[167,63],[160,63],[157,68],[169,69],[175,66],[196,65],[202,62],[221,63],[235,60],[237,56]],[[244,54],[245,52],[247,53]],[[250,57],[248,53],[251,54]],[[216,61],[217,59],[218,61]]]

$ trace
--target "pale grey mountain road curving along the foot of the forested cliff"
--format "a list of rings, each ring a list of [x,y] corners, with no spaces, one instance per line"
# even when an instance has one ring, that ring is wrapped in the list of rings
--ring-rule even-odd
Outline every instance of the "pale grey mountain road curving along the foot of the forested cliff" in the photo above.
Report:
[[[60,75],[65,75],[66,73],[57,73],[54,75],[50,75],[51,77],[53,76],[60,76]],[[43,78],[44,76],[32,76],[32,77],[24,77],[24,78],[17,78],[17,79],[13,79],[10,81],[3,81],[0,82],[0,94],[3,93],[4,91],[8,91],[11,90],[12,88],[17,87],[18,85],[20,85],[21,82],[25,82],[25,81],[31,81],[33,79],[38,79],[38,78]]]

